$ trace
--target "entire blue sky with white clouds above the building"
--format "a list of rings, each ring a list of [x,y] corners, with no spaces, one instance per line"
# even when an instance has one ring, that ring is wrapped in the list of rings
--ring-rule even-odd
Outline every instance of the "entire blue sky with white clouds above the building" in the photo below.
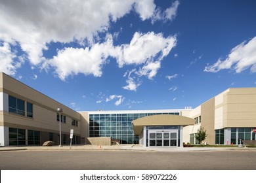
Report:
[[[74,110],[256,87],[256,1],[1,1],[0,71]]]

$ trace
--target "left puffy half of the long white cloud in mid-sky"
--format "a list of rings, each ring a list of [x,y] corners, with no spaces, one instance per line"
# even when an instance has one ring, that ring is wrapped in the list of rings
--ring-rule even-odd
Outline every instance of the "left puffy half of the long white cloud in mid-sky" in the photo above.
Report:
[[[102,75],[102,66],[106,59],[114,52],[112,39],[103,43],[94,44],[91,49],[86,48],[64,48],[59,50],[57,56],[48,61],[48,65],[56,69],[60,79],[65,80],[70,75]]]

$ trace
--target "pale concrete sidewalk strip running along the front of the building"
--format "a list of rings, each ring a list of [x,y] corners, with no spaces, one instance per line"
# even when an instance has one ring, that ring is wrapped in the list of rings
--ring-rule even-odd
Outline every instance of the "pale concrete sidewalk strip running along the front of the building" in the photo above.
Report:
[[[93,145],[74,145],[74,146],[1,146],[0,152],[3,151],[62,151],[62,150],[137,150],[152,152],[193,152],[193,151],[228,151],[228,150],[254,150],[256,148],[238,148],[238,147],[186,147],[186,148],[144,148],[140,145],[115,145],[115,146],[93,146]]]

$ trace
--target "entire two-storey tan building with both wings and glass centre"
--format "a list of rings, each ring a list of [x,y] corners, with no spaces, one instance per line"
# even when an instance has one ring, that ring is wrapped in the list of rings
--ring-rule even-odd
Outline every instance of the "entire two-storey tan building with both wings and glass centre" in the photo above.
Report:
[[[229,88],[194,109],[77,112],[0,73],[1,146],[70,144],[74,129],[72,144],[108,137],[120,144],[182,147],[197,143],[200,127],[208,144],[255,140],[256,88]]]

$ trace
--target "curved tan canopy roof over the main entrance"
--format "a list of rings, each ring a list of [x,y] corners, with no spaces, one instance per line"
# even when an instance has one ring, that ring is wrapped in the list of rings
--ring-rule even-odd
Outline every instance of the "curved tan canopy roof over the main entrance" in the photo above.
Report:
[[[171,114],[160,114],[154,116],[145,116],[132,122],[133,131],[135,135],[140,135],[144,126],[158,126],[158,125],[194,125],[195,120],[192,118],[171,115]]]

